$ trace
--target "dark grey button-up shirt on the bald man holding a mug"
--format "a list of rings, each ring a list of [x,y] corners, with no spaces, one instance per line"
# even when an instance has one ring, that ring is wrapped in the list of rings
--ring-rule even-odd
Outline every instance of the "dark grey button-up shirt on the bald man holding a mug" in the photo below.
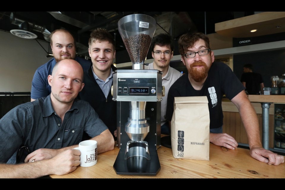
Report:
[[[64,120],[53,110],[50,95],[18,105],[0,120],[0,163],[6,163],[25,144],[30,152],[76,145],[83,132],[95,137],[107,126],[88,102],[75,100]]]

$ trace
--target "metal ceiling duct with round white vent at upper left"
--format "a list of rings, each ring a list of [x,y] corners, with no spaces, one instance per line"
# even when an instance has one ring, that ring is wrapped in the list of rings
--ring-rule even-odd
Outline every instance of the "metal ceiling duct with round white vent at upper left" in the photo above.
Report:
[[[34,30],[42,33],[44,35],[45,40],[50,41],[50,32],[45,29],[45,27],[16,18],[13,12],[11,12],[10,21],[12,24],[19,26],[19,29],[10,30],[13,35],[18,36],[20,38],[34,39],[38,37],[36,34],[31,32],[31,30]]]

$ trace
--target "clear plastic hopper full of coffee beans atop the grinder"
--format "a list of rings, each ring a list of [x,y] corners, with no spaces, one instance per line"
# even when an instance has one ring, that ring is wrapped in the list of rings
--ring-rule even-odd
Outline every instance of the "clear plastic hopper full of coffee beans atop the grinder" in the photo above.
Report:
[[[118,29],[133,63],[132,69],[144,69],[156,29],[155,19],[143,14],[128,15],[119,20]]]

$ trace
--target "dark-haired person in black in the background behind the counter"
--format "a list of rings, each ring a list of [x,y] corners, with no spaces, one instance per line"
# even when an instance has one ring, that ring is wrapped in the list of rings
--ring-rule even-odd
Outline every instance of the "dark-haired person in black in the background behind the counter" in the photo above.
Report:
[[[263,94],[263,80],[259,73],[252,72],[253,66],[245,64],[243,66],[243,75],[241,75],[241,82],[246,87],[248,94]]]

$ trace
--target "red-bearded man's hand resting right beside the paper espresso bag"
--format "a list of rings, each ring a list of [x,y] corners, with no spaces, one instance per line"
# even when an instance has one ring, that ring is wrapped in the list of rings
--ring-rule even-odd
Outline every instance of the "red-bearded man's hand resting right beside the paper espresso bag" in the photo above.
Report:
[[[223,146],[232,150],[238,147],[235,138],[226,133],[210,133],[210,142],[214,145]]]

